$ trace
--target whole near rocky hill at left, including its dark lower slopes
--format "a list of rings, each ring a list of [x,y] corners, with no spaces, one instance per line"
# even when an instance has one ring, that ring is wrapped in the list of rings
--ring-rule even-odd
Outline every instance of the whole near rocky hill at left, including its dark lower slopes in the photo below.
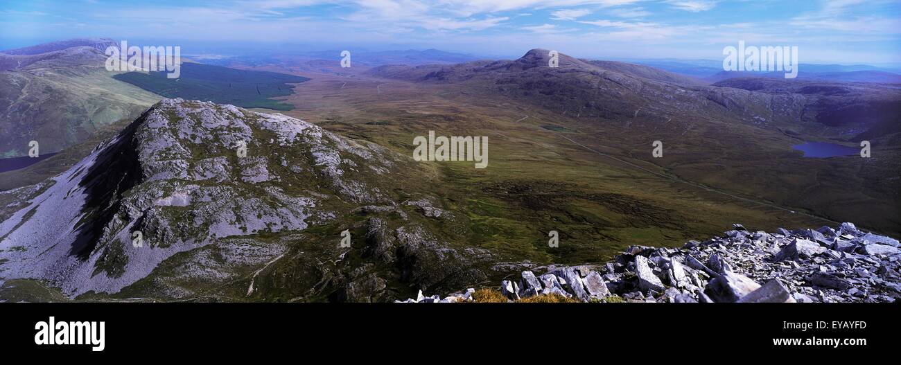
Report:
[[[0,297],[40,282],[82,298],[375,301],[484,280],[487,251],[432,233],[456,218],[411,162],[281,114],[164,99],[65,173],[0,193]]]

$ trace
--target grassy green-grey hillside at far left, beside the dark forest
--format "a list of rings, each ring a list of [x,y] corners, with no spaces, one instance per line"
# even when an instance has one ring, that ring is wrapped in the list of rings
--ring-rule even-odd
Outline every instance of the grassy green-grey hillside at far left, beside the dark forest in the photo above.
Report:
[[[61,151],[159,101],[113,78],[100,50],[108,44],[73,40],[0,53],[0,157],[27,155],[29,141],[41,153]]]

